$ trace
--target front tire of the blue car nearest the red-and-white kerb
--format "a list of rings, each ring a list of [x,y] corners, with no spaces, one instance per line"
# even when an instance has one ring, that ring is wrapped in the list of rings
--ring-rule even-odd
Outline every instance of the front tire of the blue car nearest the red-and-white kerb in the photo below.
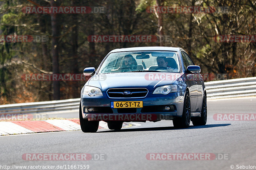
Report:
[[[99,121],[88,121],[88,119],[83,118],[81,102],[79,107],[79,120],[83,132],[97,132],[99,128]]]

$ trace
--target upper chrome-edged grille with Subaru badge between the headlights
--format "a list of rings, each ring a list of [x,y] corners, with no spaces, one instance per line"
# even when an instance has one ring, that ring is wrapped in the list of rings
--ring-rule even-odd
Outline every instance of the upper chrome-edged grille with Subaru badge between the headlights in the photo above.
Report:
[[[131,92],[131,94],[124,94],[124,92]],[[107,91],[109,98],[143,98],[148,94],[146,88],[116,88],[108,89]]]

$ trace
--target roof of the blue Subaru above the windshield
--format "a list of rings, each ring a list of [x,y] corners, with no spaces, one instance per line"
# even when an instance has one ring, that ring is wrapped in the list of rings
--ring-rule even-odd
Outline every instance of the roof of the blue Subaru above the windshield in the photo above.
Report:
[[[113,49],[109,53],[114,52],[123,52],[123,51],[155,51],[155,50],[162,50],[162,51],[180,51],[183,50],[179,47],[131,47],[131,48],[117,48]]]

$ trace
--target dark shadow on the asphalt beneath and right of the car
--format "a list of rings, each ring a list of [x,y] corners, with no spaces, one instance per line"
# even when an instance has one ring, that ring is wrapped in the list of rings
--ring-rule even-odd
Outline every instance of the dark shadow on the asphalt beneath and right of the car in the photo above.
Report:
[[[214,127],[220,127],[220,126],[228,126],[231,125],[230,123],[226,124],[209,124],[209,125],[203,125],[203,126],[189,126],[185,129],[204,129],[204,128],[214,128]],[[120,129],[120,130],[104,130],[104,131],[98,131],[97,133],[106,133],[106,132],[134,132],[134,131],[154,131],[154,130],[179,130],[177,128],[171,127],[152,127],[152,128],[127,128],[127,129]]]

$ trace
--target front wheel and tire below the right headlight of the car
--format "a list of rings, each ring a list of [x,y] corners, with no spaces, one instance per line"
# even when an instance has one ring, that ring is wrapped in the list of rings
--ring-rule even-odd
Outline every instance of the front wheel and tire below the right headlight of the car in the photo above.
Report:
[[[172,120],[173,126],[175,128],[188,128],[190,124],[190,116],[191,116],[191,105],[189,92],[186,91],[183,105],[182,117],[177,117]]]

